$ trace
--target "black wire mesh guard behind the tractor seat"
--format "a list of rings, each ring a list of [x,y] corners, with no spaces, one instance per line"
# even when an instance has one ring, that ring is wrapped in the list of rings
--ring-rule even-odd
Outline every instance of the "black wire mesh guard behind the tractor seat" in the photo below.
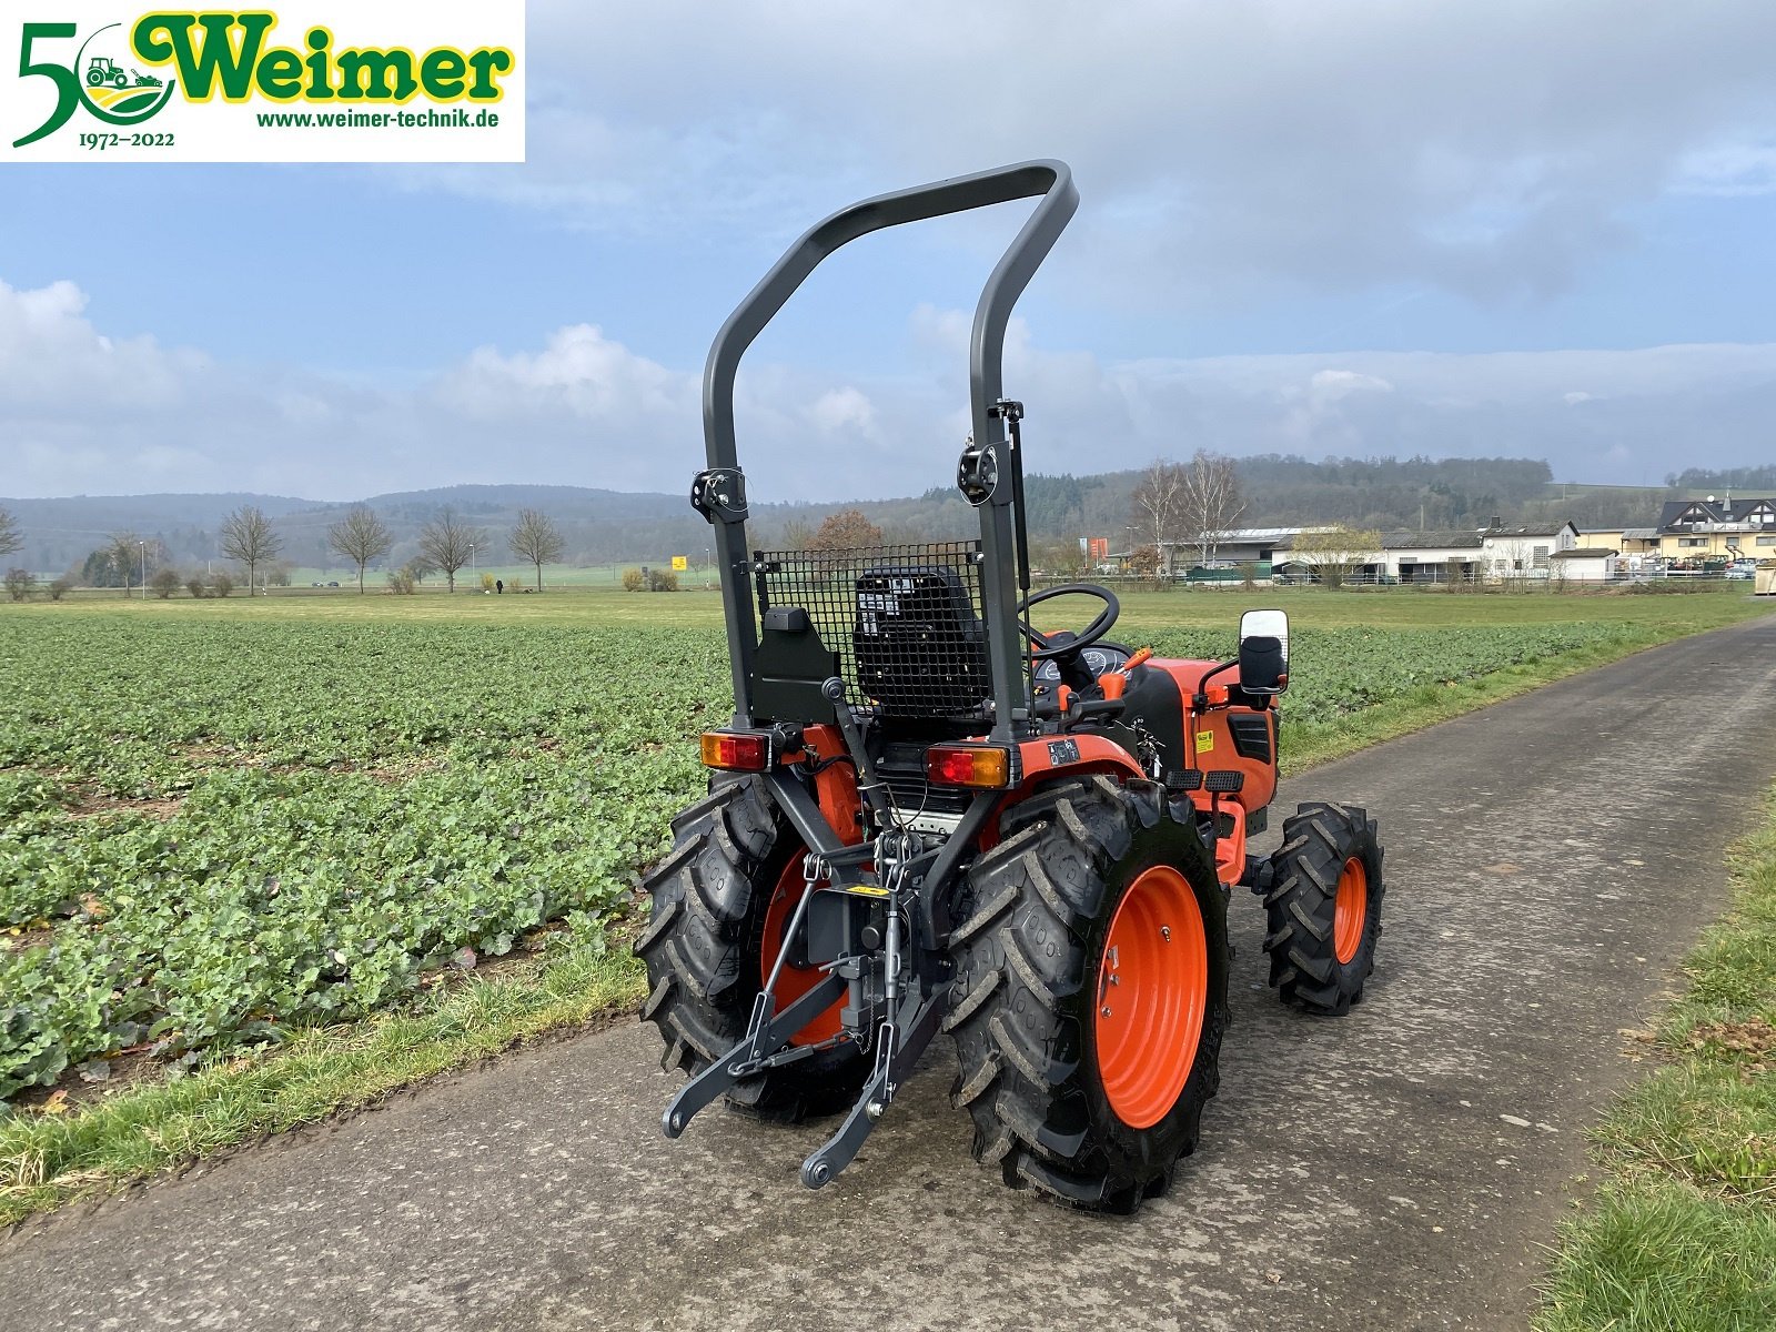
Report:
[[[753,561],[760,614],[808,611],[854,703],[893,718],[982,716],[991,675],[979,542],[758,551]]]

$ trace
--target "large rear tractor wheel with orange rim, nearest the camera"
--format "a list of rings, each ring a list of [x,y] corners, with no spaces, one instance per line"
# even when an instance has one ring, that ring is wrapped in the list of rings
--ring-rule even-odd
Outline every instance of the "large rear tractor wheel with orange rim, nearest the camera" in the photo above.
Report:
[[[1190,806],[1147,781],[1058,781],[1000,831],[950,941],[950,1099],[1012,1188],[1130,1213],[1220,1087],[1227,897]]]

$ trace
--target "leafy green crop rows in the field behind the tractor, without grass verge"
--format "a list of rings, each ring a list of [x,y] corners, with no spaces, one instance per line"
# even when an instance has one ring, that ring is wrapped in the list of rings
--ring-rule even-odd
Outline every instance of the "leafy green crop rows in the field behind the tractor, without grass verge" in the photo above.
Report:
[[[1286,726],[1625,632],[1302,630]],[[32,616],[0,623],[0,1103],[357,1018],[551,922],[597,932],[728,709],[705,629]]]

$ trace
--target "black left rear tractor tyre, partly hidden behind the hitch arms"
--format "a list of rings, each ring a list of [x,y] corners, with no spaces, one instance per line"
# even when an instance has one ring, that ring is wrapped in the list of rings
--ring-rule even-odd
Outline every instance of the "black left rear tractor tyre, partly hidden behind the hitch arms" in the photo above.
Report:
[[[648,973],[641,1018],[666,1041],[661,1067],[694,1076],[746,1037],[769,971],[765,916],[781,883],[799,884],[803,845],[751,776],[714,776],[709,797],[671,828],[671,852],[643,881],[652,915],[634,952]],[[778,929],[783,924],[778,913]],[[845,1043],[748,1078],[726,1101],[794,1124],[849,1108],[867,1073],[867,1060]]]

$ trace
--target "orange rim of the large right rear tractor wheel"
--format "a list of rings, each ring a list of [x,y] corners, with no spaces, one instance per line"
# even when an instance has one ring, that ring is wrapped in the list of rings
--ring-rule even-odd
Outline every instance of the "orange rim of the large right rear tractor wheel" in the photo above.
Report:
[[[1153,1128],[1177,1105],[1197,1062],[1208,995],[1197,895],[1170,865],[1154,865],[1117,904],[1098,964],[1098,1073],[1130,1128]]]

